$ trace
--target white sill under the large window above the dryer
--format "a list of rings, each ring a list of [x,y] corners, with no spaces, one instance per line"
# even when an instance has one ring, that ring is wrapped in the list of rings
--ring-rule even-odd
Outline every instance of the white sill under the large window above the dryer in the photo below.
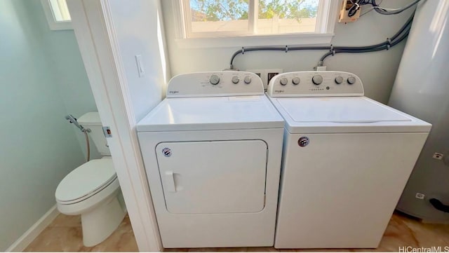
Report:
[[[222,38],[176,39],[179,48],[230,48],[250,46],[323,46],[334,34],[250,35]]]

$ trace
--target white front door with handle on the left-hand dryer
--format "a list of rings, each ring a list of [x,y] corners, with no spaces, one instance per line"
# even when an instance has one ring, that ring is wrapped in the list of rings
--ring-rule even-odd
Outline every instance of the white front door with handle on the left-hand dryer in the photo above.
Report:
[[[156,156],[168,212],[260,212],[267,144],[262,140],[161,142]]]

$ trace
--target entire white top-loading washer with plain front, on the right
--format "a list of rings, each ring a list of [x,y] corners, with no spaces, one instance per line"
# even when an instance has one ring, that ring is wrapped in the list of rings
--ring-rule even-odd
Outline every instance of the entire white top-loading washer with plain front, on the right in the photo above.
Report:
[[[286,121],[274,247],[377,247],[431,125],[346,72],[280,74],[268,95]]]

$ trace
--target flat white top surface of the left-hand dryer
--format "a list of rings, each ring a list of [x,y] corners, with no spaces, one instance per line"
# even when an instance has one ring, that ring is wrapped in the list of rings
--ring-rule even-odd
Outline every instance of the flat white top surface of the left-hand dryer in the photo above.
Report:
[[[139,132],[260,128],[283,128],[264,95],[166,98],[137,125]]]

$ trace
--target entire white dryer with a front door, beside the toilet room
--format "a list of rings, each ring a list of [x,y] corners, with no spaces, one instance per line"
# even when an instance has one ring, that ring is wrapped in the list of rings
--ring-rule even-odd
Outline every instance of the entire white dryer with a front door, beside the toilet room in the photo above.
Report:
[[[175,76],[137,130],[163,247],[274,244],[283,118],[257,75]]]

